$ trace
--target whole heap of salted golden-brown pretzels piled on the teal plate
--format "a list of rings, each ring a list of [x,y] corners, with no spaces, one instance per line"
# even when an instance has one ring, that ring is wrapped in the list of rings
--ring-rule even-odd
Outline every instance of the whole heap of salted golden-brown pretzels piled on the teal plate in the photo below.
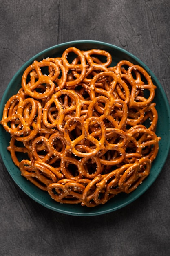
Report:
[[[56,202],[105,204],[150,174],[161,139],[155,89],[143,67],[113,66],[101,49],[70,47],[35,60],[4,106],[7,150],[21,175]]]

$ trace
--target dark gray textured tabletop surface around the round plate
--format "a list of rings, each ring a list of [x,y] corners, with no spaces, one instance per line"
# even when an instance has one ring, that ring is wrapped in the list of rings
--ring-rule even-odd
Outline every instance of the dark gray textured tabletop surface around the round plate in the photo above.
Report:
[[[38,52],[71,40],[122,47],[155,73],[170,102],[169,0],[0,1],[0,99]],[[0,256],[170,255],[170,154],[154,184],[128,206],[96,217],[35,203],[0,162]]]

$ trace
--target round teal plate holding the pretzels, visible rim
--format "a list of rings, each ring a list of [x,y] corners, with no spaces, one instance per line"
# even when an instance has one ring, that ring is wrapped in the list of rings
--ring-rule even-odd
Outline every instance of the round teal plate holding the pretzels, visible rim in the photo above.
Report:
[[[159,116],[158,124],[157,124],[157,136],[161,137],[161,141],[159,142],[159,153],[157,158],[152,163],[152,169],[150,175],[143,181],[141,185],[137,187],[135,191],[130,194],[121,193],[110,201],[108,201],[104,205],[99,205],[97,207],[82,207],[79,204],[70,205],[70,204],[60,204],[51,199],[49,194],[46,191],[42,191],[38,189],[31,182],[26,180],[24,177],[20,175],[20,170],[13,164],[10,153],[6,150],[7,146],[9,146],[10,135],[4,130],[3,126],[0,126],[0,154],[2,156],[2,160],[4,165],[7,168],[7,171],[13,178],[14,182],[24,191],[30,198],[35,200],[36,202],[42,204],[44,207],[47,207],[51,210],[75,215],[75,216],[95,216],[100,214],[109,213],[112,211],[116,211],[126,205],[130,204],[140,195],[142,195],[155,181],[159,173],[161,172],[163,165],[166,162],[166,158],[168,156],[168,152],[170,149],[170,106],[168,103],[168,99],[166,97],[163,88],[155,75],[150,71],[150,69],[137,57],[133,56],[129,52],[124,49],[121,49],[115,45],[110,45],[108,43],[91,41],[91,40],[82,40],[82,41],[72,41],[68,43],[62,43],[60,45],[55,45],[49,49],[46,49],[39,54],[33,56],[29,61],[27,61],[18,72],[13,76],[13,79],[10,81],[7,86],[6,91],[2,97],[2,101],[0,103],[0,119],[2,118],[2,112],[4,108],[4,104],[7,102],[9,97],[18,92],[21,83],[21,77],[29,65],[33,63],[36,59],[38,61],[47,57],[57,57],[61,56],[62,52],[68,47],[77,47],[81,50],[88,49],[104,49],[113,56],[113,65],[115,65],[118,61],[122,59],[126,59],[131,61],[134,64],[141,65],[144,69],[150,74],[152,77],[153,83],[157,86],[156,94],[154,102],[157,104],[157,112]]]

